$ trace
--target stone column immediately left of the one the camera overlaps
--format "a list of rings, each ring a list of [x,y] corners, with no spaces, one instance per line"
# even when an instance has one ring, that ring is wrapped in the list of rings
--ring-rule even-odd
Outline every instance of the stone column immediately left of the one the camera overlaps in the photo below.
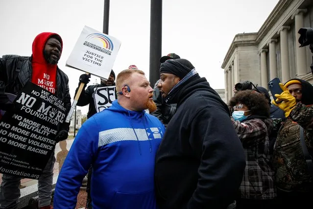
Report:
[[[280,52],[282,60],[282,80],[285,83],[290,79],[290,68],[289,68],[289,49],[288,49],[288,37],[287,31],[290,29],[289,26],[282,26],[278,30],[280,35]]]

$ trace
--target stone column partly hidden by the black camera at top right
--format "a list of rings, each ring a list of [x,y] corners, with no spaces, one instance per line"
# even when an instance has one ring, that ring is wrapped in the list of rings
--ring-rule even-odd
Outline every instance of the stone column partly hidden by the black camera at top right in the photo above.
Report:
[[[298,33],[301,27],[304,27],[303,14],[307,12],[307,9],[297,9],[296,12],[291,16],[291,19],[294,18],[295,25],[295,40],[296,41],[296,63],[297,63],[297,76],[307,74],[307,52],[306,48],[299,48],[298,39],[300,34]]]

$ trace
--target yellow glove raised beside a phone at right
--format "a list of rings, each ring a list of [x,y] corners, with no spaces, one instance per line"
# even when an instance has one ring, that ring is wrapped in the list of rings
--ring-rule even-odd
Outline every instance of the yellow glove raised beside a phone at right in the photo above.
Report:
[[[276,101],[272,100],[275,106],[278,106],[285,112],[285,116],[288,117],[291,110],[296,105],[295,98],[289,93],[288,88],[283,83],[279,83],[280,88],[283,90],[281,94],[275,94]]]

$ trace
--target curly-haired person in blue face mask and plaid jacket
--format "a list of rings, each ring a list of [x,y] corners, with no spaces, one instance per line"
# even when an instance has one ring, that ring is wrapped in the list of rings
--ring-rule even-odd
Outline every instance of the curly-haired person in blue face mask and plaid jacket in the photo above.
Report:
[[[268,136],[273,121],[263,94],[239,91],[229,102],[232,123],[246,157],[237,209],[271,209],[276,198]]]

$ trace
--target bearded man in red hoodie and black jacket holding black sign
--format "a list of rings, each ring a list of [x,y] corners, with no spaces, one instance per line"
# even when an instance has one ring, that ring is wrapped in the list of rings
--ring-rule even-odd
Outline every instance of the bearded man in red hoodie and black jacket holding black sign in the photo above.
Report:
[[[0,58],[0,109],[14,113],[14,104],[5,93],[17,95],[27,81],[55,94],[64,102],[67,109],[71,107],[69,78],[61,71],[57,63],[62,52],[63,42],[56,33],[43,32],[36,36],[32,45],[32,55],[3,55]],[[61,141],[68,137],[69,124],[64,123],[55,140]],[[38,180],[38,196],[40,209],[50,209],[54,152]],[[0,209],[17,209],[19,204],[21,178],[2,175],[0,187]]]

